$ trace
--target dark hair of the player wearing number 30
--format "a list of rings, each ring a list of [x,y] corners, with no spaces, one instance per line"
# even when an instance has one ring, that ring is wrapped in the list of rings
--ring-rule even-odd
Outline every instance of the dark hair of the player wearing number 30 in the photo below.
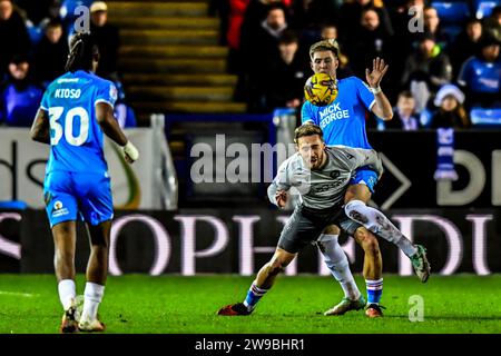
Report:
[[[80,32],[71,38],[66,71],[92,70],[92,61],[99,56],[98,47],[90,33]]]

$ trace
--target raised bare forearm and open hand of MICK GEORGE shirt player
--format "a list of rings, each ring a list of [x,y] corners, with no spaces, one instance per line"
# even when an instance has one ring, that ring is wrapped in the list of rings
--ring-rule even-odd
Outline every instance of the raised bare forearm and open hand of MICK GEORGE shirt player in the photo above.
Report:
[[[367,80],[369,86],[371,87],[374,98],[375,105],[372,107],[372,112],[374,112],[377,117],[387,121],[393,118],[393,109],[387,100],[384,92],[381,90],[381,80],[389,69],[389,65],[384,62],[384,59],[376,58],[372,61],[372,71],[369,68],[365,69],[365,79]]]

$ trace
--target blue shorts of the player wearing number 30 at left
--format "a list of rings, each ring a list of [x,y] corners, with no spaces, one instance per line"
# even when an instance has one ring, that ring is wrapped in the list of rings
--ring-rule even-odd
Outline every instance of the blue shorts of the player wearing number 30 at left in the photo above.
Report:
[[[43,198],[50,227],[76,221],[79,216],[90,225],[114,217],[111,184],[105,174],[52,171],[46,175]]]

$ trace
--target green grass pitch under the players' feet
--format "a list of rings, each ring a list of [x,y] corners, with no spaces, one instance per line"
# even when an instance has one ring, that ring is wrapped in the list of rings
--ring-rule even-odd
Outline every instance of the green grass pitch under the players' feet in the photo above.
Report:
[[[127,275],[109,277],[99,313],[107,334],[469,334],[501,333],[501,275],[384,277],[384,317],[363,310],[341,317],[323,312],[342,291],[331,277],[279,276],[250,316],[217,316],[219,307],[242,301],[252,277]],[[364,280],[356,277],[365,294]],[[84,294],[84,276],[77,291]],[[424,301],[424,320],[411,323],[411,296]],[[0,333],[58,333],[62,316],[51,275],[0,274]]]

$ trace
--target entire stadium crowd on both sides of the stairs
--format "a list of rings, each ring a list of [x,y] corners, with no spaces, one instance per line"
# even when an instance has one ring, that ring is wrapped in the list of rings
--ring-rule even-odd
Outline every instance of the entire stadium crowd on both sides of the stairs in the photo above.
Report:
[[[97,75],[119,89],[121,126],[136,126],[117,69],[119,29],[105,2],[88,0],[0,0],[0,125],[30,125],[43,89],[63,72],[81,3],[100,48]],[[239,78],[235,99],[248,112],[301,108],[308,48],[320,39],[340,46],[338,79],[364,79],[376,57],[390,63],[383,87],[395,119],[370,127],[468,128],[472,116],[501,110],[500,0],[210,0],[210,9]]]

